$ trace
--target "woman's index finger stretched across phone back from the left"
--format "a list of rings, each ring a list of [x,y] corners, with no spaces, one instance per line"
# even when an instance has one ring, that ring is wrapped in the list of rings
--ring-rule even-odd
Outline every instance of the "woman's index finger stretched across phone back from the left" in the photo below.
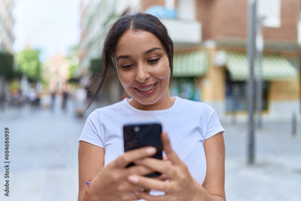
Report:
[[[125,152],[123,155],[119,156],[110,165],[112,165],[115,168],[125,168],[131,162],[134,162],[138,159],[141,159],[141,158],[144,158],[147,156],[153,156],[156,152],[157,152],[157,149],[154,146],[147,146],[147,147],[132,149],[132,150]]]

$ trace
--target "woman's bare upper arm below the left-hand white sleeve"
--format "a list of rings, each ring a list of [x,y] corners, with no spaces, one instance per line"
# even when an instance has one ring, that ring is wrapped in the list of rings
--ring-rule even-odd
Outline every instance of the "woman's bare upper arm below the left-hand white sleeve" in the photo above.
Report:
[[[79,141],[78,149],[78,201],[86,201],[85,183],[95,177],[104,167],[104,148],[85,141]]]

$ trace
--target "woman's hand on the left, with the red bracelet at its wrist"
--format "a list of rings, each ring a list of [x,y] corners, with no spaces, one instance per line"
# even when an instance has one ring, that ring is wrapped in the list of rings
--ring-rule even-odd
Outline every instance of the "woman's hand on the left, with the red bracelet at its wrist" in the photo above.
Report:
[[[125,168],[131,162],[152,156],[157,152],[155,147],[142,147],[127,151],[119,156],[98,172],[88,187],[88,197],[90,201],[120,201],[139,199],[136,192],[142,189],[148,193],[150,190],[141,184],[132,184],[127,181],[130,174],[147,175],[154,172],[152,169],[142,165],[133,165]],[[156,180],[166,180],[159,176]]]

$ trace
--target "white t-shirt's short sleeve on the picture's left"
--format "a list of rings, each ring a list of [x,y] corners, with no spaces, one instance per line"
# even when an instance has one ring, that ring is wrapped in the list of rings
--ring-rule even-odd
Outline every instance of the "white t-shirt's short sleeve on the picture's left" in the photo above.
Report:
[[[82,129],[82,133],[78,141],[82,140],[104,148],[100,132],[100,121],[98,112],[98,109],[96,109],[90,113]]]

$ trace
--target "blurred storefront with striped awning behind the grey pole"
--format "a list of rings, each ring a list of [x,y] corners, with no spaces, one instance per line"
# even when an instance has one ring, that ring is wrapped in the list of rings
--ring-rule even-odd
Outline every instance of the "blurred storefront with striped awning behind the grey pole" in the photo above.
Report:
[[[227,104],[226,112],[247,112],[248,100],[248,88],[247,80],[249,79],[249,61],[247,55],[244,52],[228,52],[226,54],[226,97],[230,97],[233,89],[238,88],[239,93],[233,96]],[[295,102],[298,101],[297,93],[292,97],[290,92],[286,90],[285,86],[289,86],[297,79],[298,70],[296,66],[293,66],[286,58],[274,54],[264,55],[262,62],[254,62],[254,107],[256,108],[256,84],[258,80],[259,71],[262,76],[262,112],[266,116],[273,118],[284,114],[282,109],[287,108],[287,117],[290,117],[288,113],[294,110],[296,107]],[[275,87],[275,86],[278,87]],[[282,86],[282,87],[281,87]],[[298,86],[299,87],[299,86]],[[279,98],[280,97],[280,98]],[[280,100],[278,100],[280,99]],[[277,100],[277,108],[275,106],[275,100]],[[274,106],[273,106],[274,105]],[[291,107],[287,107],[291,105]],[[296,108],[295,108],[296,109]]]

